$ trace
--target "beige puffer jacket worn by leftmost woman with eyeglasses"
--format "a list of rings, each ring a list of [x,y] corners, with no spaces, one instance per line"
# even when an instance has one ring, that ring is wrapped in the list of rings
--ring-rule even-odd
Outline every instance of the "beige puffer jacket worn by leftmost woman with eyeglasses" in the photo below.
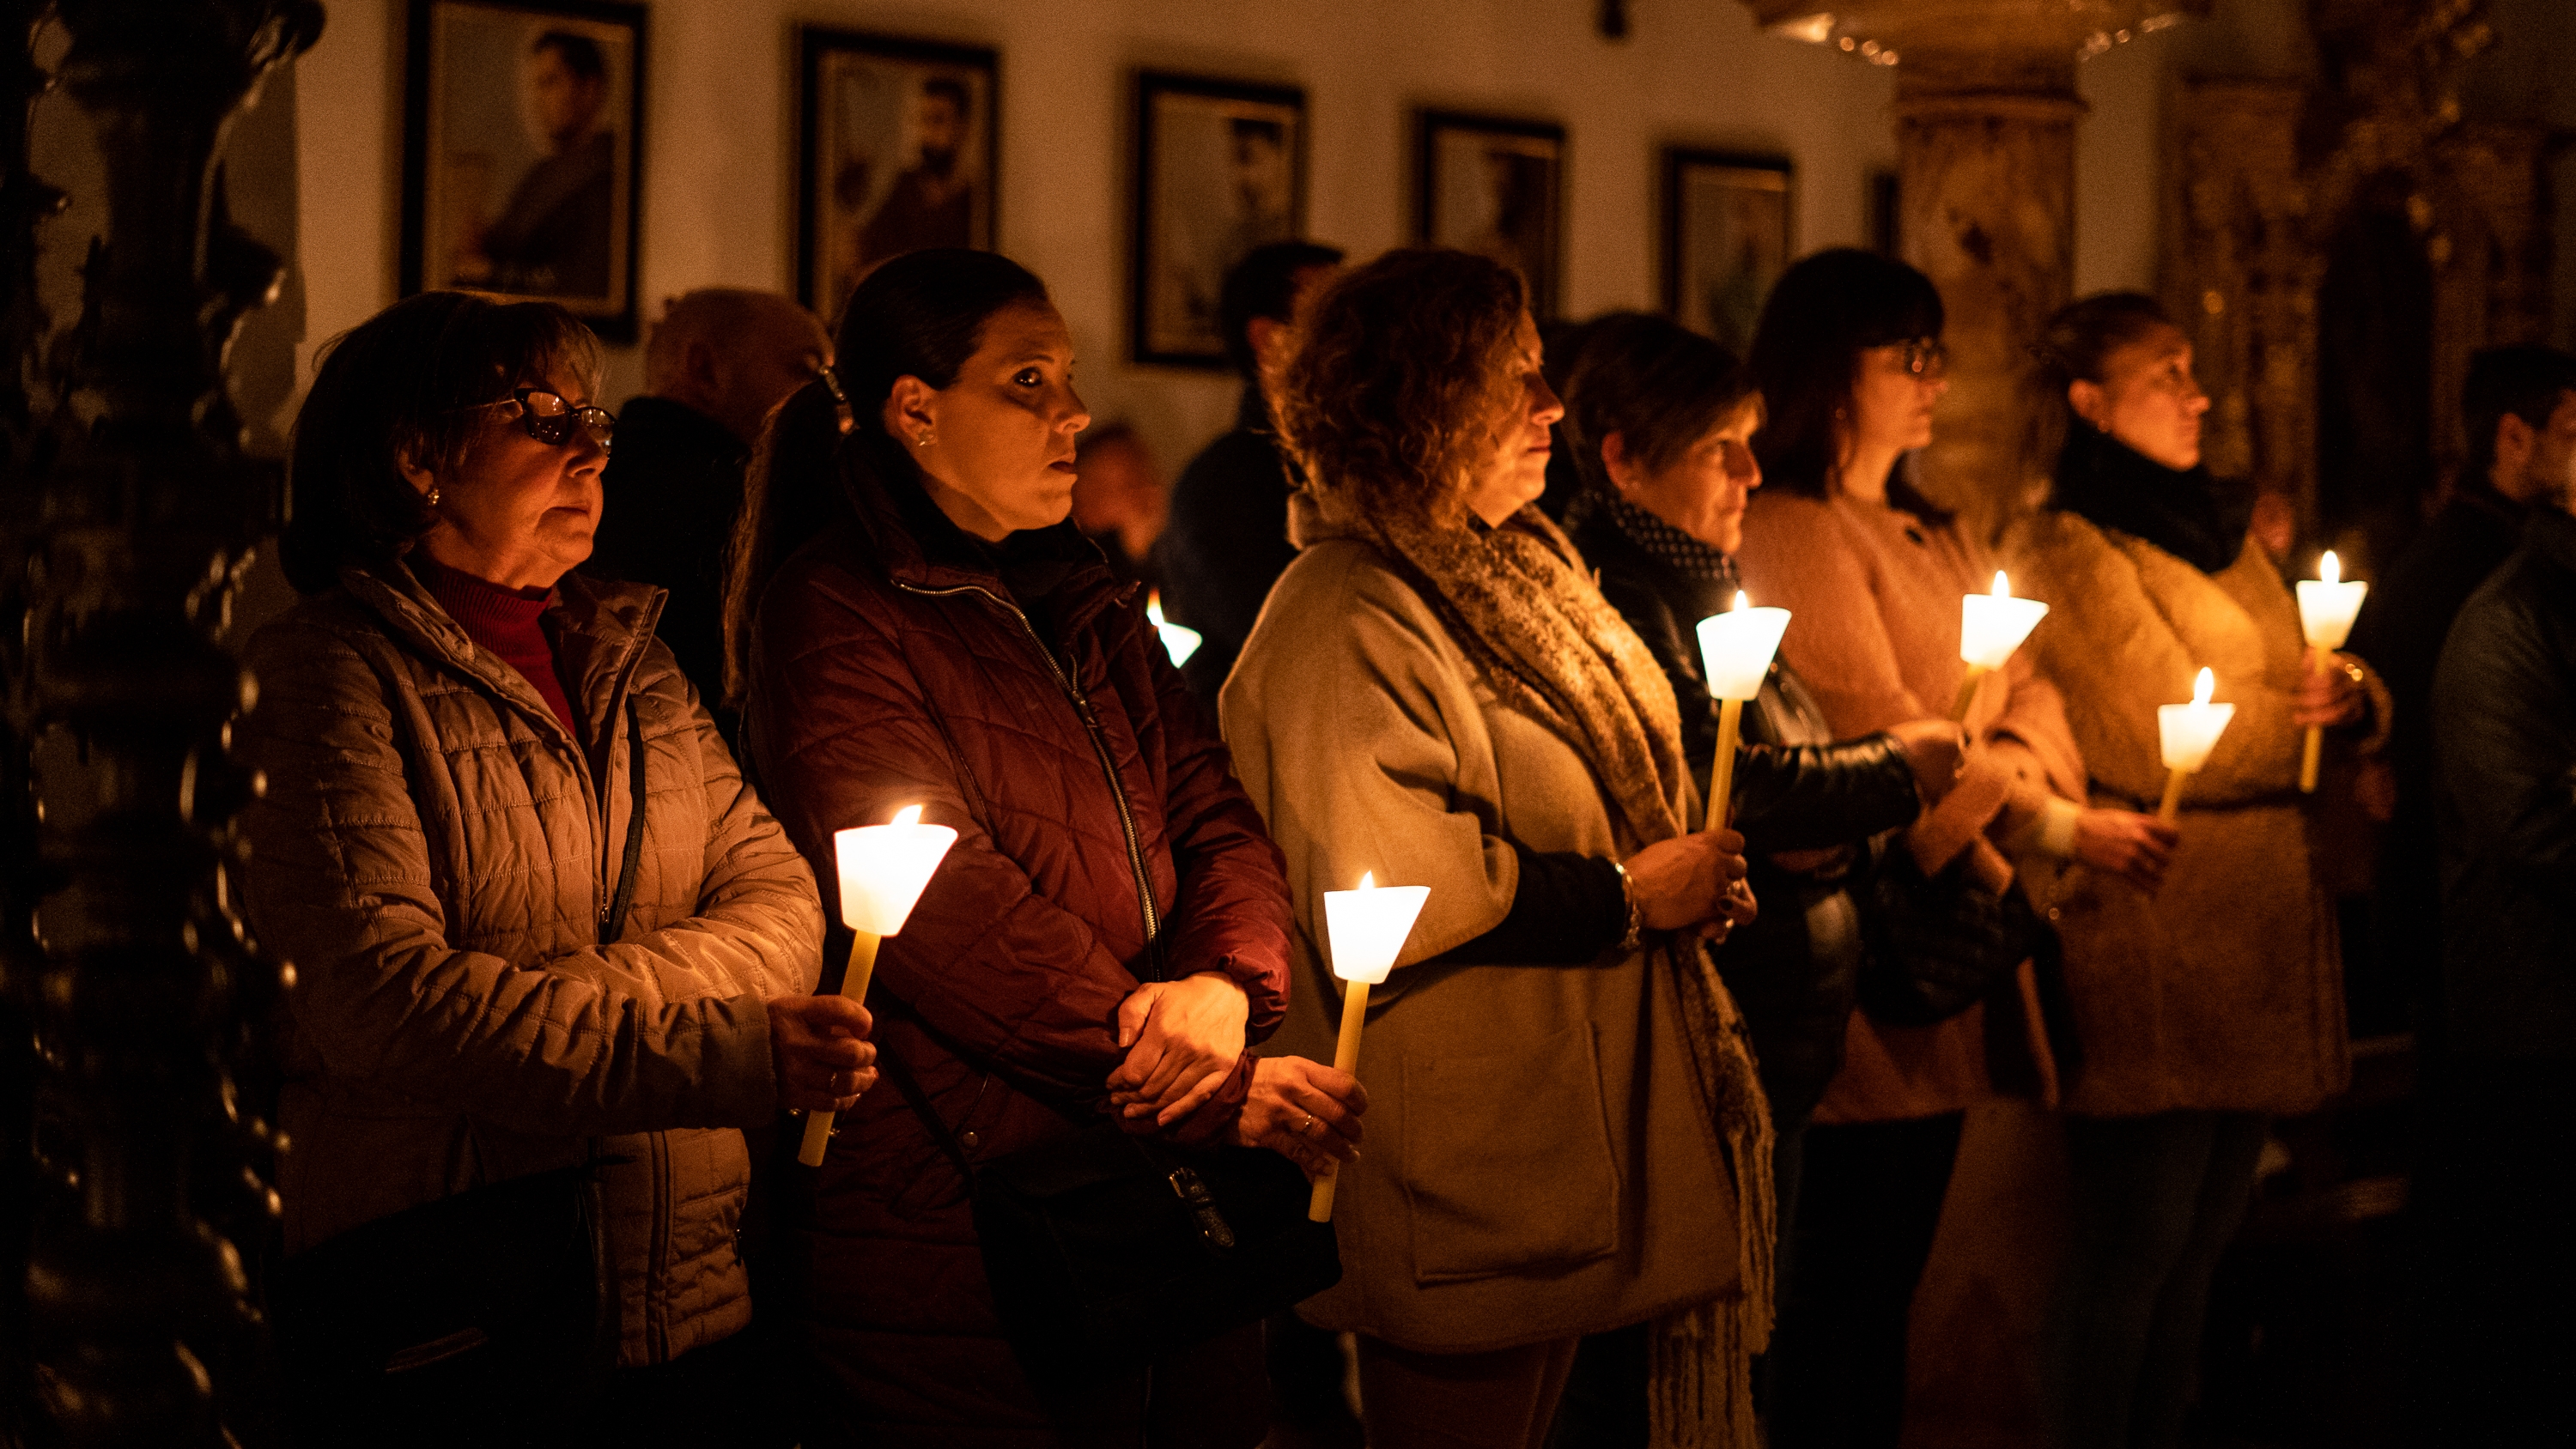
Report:
[[[621,1364],[750,1323],[734,1243],[775,1073],[765,999],[814,988],[822,906],[652,636],[662,589],[564,577],[546,618],[585,736],[407,569],[343,569],[250,643],[247,906],[296,965],[286,1248],[484,1181],[603,1174]],[[629,697],[634,710],[629,713]],[[626,934],[598,921],[647,741]]]

